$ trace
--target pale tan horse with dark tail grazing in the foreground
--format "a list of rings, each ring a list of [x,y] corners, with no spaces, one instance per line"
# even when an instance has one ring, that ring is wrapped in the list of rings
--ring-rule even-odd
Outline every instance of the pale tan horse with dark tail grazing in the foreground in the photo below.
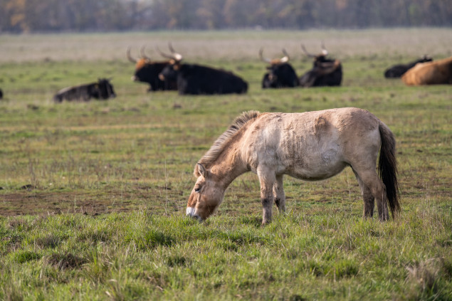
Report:
[[[273,201],[285,211],[283,175],[317,181],[352,167],[364,199],[364,217],[380,221],[400,210],[395,139],[389,127],[355,107],[303,113],[244,112],[216,139],[194,167],[198,178],[186,215],[203,221],[221,204],[224,192],[246,171],[258,174],[262,224],[269,223]],[[376,171],[379,154],[379,178]]]

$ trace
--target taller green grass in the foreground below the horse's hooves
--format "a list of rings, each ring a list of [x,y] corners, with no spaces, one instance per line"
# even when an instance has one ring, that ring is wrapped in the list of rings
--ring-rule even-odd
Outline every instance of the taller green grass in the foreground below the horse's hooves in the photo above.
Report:
[[[246,215],[199,224],[151,211],[4,220],[2,295],[450,299],[452,223],[438,204],[389,223],[323,212],[290,211],[264,228]]]

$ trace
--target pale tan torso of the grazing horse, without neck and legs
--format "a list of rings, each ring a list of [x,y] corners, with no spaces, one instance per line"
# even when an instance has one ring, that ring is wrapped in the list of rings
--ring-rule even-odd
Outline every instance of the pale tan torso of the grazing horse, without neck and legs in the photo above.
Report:
[[[263,113],[248,127],[242,152],[251,169],[275,169],[299,179],[327,179],[355,159],[377,158],[379,120],[353,107],[303,113]]]

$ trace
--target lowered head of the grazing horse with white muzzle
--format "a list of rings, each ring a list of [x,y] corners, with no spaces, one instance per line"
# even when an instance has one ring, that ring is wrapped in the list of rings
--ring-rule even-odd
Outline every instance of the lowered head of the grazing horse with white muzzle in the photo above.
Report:
[[[186,215],[204,221],[221,204],[225,189],[221,187],[216,176],[201,164],[196,164],[195,175],[198,179],[186,204]]]

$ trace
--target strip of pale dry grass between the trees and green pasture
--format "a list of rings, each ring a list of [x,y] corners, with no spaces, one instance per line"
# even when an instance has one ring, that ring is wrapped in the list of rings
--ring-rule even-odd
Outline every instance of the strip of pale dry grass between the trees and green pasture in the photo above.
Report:
[[[320,43],[339,58],[349,56],[409,56],[429,54],[452,56],[449,28],[394,28],[373,30],[310,31],[158,31],[148,33],[40,34],[0,36],[0,63],[41,60],[125,60],[125,49],[138,56],[146,45],[149,56],[160,60],[155,51],[167,51],[167,43],[187,60],[258,60],[263,47],[268,56],[303,58],[300,44],[308,51],[320,51]]]

